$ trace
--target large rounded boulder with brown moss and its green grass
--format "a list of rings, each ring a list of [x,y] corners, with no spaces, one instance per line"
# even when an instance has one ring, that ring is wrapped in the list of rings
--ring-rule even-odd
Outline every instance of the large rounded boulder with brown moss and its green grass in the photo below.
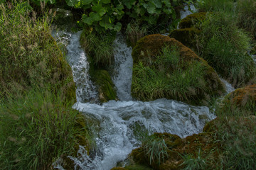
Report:
[[[174,38],[147,35],[137,42],[132,57],[132,96],[139,100],[169,98],[198,104],[224,91],[206,60]]]

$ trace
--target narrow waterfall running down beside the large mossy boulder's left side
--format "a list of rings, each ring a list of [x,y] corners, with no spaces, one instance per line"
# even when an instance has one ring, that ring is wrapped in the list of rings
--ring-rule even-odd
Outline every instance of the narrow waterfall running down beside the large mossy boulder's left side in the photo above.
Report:
[[[117,97],[120,101],[130,101],[132,100],[132,47],[127,47],[121,33],[117,33],[113,47],[114,74],[112,74],[112,80],[117,87]]]

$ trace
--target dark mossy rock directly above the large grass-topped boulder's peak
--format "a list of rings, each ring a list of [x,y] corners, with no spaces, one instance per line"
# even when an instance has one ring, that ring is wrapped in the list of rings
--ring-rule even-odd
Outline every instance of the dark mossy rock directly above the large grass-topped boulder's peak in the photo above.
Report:
[[[198,35],[201,31],[196,28],[182,28],[177,30],[172,30],[169,34],[170,38],[175,38],[176,40],[183,43],[187,47],[196,51],[196,35]]]

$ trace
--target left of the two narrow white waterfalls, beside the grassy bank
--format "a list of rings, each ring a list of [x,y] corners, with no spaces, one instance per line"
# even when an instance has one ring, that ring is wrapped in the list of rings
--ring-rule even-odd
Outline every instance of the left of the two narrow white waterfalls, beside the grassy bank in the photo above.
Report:
[[[68,33],[65,31],[53,32],[53,37],[57,42],[63,43],[68,50],[68,64],[72,68],[73,78],[76,86],[76,97],[78,102],[97,101],[97,92],[95,86],[90,81],[89,63],[85,52],[80,47],[80,35],[78,33]]]

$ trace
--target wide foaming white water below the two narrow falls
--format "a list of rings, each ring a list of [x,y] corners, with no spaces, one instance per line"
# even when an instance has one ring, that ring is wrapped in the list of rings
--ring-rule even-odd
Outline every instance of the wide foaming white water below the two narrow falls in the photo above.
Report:
[[[109,170],[127,158],[132,149],[139,147],[143,132],[169,132],[186,137],[203,130],[206,121],[215,118],[205,106],[158,99],[156,101],[109,101],[102,106],[93,103],[75,103],[74,109],[92,116],[100,122],[100,132],[95,133],[97,159],[80,156],[77,164],[87,169]],[[81,161],[80,161],[81,162]]]

